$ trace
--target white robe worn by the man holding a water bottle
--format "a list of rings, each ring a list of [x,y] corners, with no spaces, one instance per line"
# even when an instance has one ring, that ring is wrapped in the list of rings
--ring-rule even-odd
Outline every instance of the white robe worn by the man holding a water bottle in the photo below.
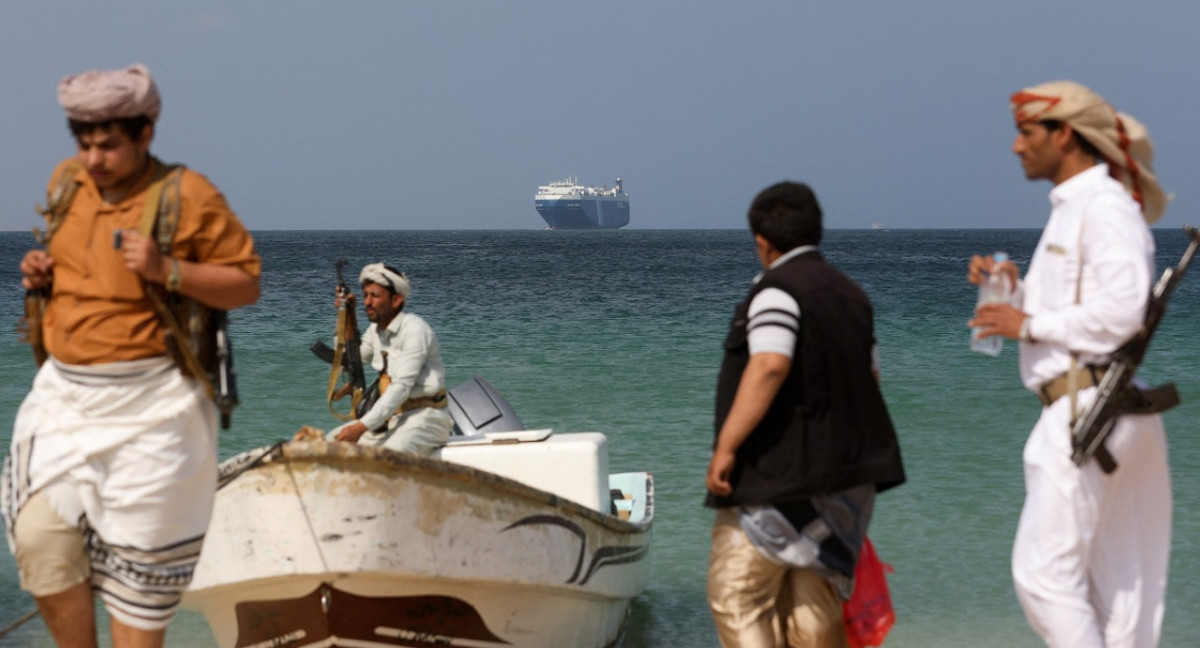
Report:
[[[1154,242],[1136,203],[1098,164],[1050,192],[1052,211],[1018,294],[1033,343],[1031,390],[1078,353],[1106,364],[1141,326]],[[1081,272],[1081,275],[1080,275]],[[1078,395],[1086,407],[1096,388]],[[1171,545],[1166,440],[1158,415],[1122,416],[1106,442],[1118,468],[1070,460],[1070,398],[1042,410],[1025,445],[1025,505],[1013,547],[1018,599],[1051,647],[1153,647]]]

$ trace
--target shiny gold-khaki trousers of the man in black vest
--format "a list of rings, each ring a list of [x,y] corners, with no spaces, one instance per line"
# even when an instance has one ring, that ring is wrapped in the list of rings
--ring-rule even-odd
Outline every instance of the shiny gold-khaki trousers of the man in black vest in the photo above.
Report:
[[[708,606],[724,648],[847,648],[833,584],[816,570],[764,558],[733,508],[713,522]]]

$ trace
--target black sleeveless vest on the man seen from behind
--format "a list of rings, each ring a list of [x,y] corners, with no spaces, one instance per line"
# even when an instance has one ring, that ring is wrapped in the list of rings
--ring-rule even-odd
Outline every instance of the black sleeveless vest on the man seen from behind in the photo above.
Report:
[[[871,372],[871,301],[817,252],[767,270],[738,305],[718,378],[714,442],[750,360],[750,301],[766,288],[786,292],[800,306],[792,370],[738,449],[733,493],[708,493],[706,505],[779,504],[862,484],[880,492],[902,484],[900,445]]]

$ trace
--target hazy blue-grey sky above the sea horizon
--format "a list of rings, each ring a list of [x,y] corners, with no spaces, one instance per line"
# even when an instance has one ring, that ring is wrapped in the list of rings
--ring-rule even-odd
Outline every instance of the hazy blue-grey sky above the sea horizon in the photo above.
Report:
[[[1200,222],[1200,2],[5,2],[0,229],[73,154],[62,76],[144,62],[151,150],[252,229],[536,229],[619,175],[636,228],[742,228],[782,179],[829,228],[1040,227],[1008,96],[1070,78],[1141,119]]]

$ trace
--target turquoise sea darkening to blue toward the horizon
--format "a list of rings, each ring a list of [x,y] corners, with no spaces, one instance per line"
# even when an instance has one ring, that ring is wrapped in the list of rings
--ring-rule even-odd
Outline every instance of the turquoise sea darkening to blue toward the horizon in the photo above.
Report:
[[[1009,551],[1022,498],[1021,446],[1038,414],[1016,353],[967,350],[972,253],[1027,264],[1037,230],[832,230],[828,258],[876,307],[883,391],[910,481],[881,496],[870,535],[890,576],[898,622],[888,647],[1038,647],[1012,592]],[[1159,270],[1184,247],[1156,230]],[[704,602],[708,530],[701,502],[721,340],[758,271],[744,230],[260,232],[263,296],[233,316],[242,406],[222,456],[330,427],[328,366],[334,260],[388,260],[408,271],[413,312],[442,342],[449,382],[491,380],[530,427],[600,431],[614,472],[650,470],[658,488],[652,574],[631,611],[626,648],[716,646]],[[29,235],[0,234],[0,452],[34,374],[12,332],[18,259]],[[356,272],[356,271],[355,271]],[[1196,270],[1200,274],[1200,269]],[[360,319],[365,319],[361,318]],[[1162,646],[1200,644],[1200,277],[1184,281],[1142,370],[1175,380],[1166,415],[1175,487],[1170,592]],[[32,610],[0,552],[0,629]],[[212,646],[184,613],[168,646]],[[0,646],[49,647],[35,619]]]

